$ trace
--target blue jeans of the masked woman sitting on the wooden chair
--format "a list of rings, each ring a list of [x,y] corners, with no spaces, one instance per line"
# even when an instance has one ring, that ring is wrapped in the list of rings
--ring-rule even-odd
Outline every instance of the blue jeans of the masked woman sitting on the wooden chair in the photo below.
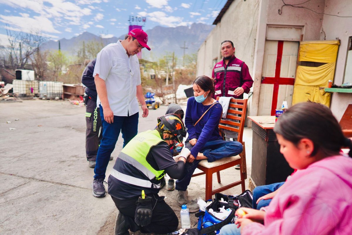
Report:
[[[189,142],[186,142],[185,147],[191,149],[193,146],[191,146]],[[242,150],[243,146],[238,141],[213,140],[208,141],[200,152],[208,158],[208,162],[213,162],[224,157],[238,155],[242,152]],[[186,162],[186,164],[184,165],[185,176],[183,177],[183,179],[179,179],[176,181],[176,190],[187,190],[193,172],[197,168],[198,163],[200,161],[201,160],[194,160],[191,163]]]

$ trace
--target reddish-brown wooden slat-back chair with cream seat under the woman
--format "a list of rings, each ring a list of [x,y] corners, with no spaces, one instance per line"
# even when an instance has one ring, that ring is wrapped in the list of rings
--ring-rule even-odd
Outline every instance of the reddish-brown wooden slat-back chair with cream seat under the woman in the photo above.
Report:
[[[230,107],[234,107],[242,110],[241,111],[231,110]],[[205,199],[206,200],[211,199],[212,195],[214,195],[215,193],[225,191],[237,185],[242,186],[242,192],[246,190],[245,188],[245,179],[247,179],[246,151],[245,151],[245,143],[242,140],[244,120],[246,118],[246,110],[247,110],[247,99],[231,99],[226,118],[238,120],[239,122],[228,121],[221,118],[219,123],[219,129],[226,129],[226,130],[238,132],[237,141],[242,143],[243,145],[242,153],[240,153],[237,156],[224,157],[223,159],[216,160],[214,162],[208,162],[206,159],[202,160],[199,162],[199,165],[197,166],[197,168],[203,172],[192,175],[192,177],[203,175],[203,174],[206,175],[206,178],[205,178],[205,184],[206,184]],[[229,124],[234,127],[226,126],[224,124]],[[240,180],[213,190],[213,173],[216,172],[218,183],[221,183],[220,171],[233,167],[238,164],[240,165],[240,176],[241,176]]]

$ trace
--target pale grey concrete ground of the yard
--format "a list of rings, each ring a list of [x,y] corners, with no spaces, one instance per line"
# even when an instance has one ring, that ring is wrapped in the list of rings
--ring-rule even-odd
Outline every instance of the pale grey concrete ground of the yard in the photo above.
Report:
[[[185,108],[186,101],[181,106]],[[166,109],[162,105],[149,110],[147,118],[140,117],[138,130],[153,129],[156,118]],[[0,234],[113,234],[117,209],[111,197],[92,196],[94,171],[88,167],[85,156],[84,113],[83,106],[62,100],[0,103]],[[245,128],[244,141],[249,178],[252,155],[249,128]],[[121,148],[120,135],[107,177]],[[236,169],[221,172],[222,183],[235,177],[239,177]],[[215,175],[213,185],[221,186]],[[188,190],[189,199],[204,199],[205,176],[192,178]],[[241,187],[223,193],[239,194]],[[166,203],[179,216],[177,191],[163,188],[159,195],[165,196]],[[196,221],[191,215],[191,224]]]

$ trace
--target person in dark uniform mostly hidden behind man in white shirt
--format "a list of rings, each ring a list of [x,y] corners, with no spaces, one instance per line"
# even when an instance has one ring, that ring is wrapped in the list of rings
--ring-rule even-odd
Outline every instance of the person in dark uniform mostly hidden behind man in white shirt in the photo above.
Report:
[[[88,165],[91,168],[95,167],[96,154],[98,153],[98,148],[100,140],[102,138],[101,129],[101,119],[99,107],[96,107],[96,88],[93,77],[93,71],[96,59],[91,60],[82,73],[82,84],[86,86],[84,89],[84,104],[86,104],[86,156]],[[110,157],[113,160],[114,157]]]

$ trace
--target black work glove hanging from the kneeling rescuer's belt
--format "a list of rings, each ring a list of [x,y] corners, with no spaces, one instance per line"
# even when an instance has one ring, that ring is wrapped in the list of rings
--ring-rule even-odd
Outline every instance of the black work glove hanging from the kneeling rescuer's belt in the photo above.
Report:
[[[136,204],[137,207],[136,214],[134,215],[134,222],[142,227],[150,224],[153,213],[152,198],[149,196],[145,196],[145,199],[139,197]]]

